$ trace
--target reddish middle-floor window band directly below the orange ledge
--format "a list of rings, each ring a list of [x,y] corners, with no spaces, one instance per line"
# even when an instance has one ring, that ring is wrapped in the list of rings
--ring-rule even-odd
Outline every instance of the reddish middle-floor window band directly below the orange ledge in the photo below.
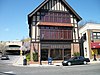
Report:
[[[62,29],[40,29],[41,40],[72,40],[72,30]]]

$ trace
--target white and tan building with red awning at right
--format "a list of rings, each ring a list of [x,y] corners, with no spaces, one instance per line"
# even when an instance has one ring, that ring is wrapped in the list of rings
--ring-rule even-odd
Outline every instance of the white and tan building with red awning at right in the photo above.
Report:
[[[100,24],[87,23],[79,29],[81,52],[83,56],[93,59],[100,58]]]

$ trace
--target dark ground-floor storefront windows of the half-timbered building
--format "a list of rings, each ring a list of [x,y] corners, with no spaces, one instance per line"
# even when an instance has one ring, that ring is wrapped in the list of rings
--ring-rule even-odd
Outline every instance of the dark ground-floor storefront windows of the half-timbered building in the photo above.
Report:
[[[48,57],[53,60],[69,59],[71,57],[71,49],[42,49],[41,60],[46,61]]]

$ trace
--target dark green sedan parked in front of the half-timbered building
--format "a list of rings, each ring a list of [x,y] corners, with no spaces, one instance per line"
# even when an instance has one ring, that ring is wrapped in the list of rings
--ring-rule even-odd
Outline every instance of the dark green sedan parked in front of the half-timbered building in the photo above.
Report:
[[[68,60],[64,60],[62,62],[63,66],[70,66],[70,65],[78,65],[78,64],[87,64],[88,62],[90,62],[89,58],[84,58],[83,56],[75,56],[72,57]]]

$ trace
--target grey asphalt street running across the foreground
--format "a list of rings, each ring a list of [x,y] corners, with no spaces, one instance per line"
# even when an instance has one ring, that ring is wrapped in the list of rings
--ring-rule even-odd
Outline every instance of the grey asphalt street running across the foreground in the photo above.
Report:
[[[13,74],[5,74],[11,72]],[[100,75],[100,63],[74,66],[12,66],[0,64],[0,75]]]

